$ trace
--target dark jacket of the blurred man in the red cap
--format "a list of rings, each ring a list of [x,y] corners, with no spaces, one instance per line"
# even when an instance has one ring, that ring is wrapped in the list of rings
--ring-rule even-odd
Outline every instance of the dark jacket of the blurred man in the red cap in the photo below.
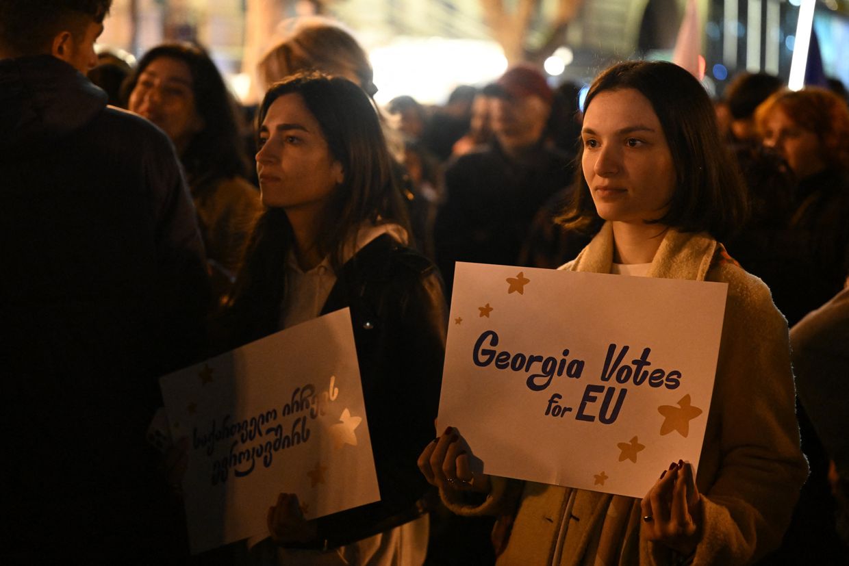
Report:
[[[448,289],[454,262],[516,265],[534,215],[571,182],[568,156],[542,144],[522,160],[492,146],[462,155],[445,172],[436,215],[436,261]]]

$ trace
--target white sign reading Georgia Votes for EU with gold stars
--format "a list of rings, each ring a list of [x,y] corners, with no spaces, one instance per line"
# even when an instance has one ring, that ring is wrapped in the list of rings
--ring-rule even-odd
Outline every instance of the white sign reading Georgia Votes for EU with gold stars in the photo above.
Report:
[[[698,468],[727,291],[458,263],[439,425],[477,471],[642,497]]]

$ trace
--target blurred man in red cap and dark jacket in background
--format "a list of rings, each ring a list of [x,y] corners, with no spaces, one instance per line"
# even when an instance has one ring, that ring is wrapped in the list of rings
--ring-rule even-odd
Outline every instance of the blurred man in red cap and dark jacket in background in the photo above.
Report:
[[[436,216],[436,263],[449,289],[455,261],[517,265],[533,216],[572,177],[568,155],[546,147],[554,92],[542,73],[517,65],[483,92],[495,141],[448,166]]]

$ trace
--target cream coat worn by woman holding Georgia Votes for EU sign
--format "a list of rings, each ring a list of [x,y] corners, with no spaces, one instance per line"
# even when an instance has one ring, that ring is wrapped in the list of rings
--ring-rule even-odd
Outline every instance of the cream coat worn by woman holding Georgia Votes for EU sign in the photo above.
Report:
[[[612,261],[608,223],[560,269],[609,273]],[[667,231],[649,277],[728,283],[697,477],[703,516],[693,563],[751,563],[779,545],[807,477],[787,323],[761,280],[737,266],[707,234]],[[518,503],[499,565],[669,564],[677,558],[665,546],[640,538],[637,499],[503,478],[492,483],[482,505],[469,505],[444,490],[441,496],[461,515],[513,513]]]

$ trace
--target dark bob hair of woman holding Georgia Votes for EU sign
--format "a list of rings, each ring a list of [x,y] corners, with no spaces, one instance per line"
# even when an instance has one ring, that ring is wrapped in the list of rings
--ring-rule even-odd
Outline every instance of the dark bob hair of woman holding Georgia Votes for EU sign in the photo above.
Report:
[[[677,64],[629,61],[604,70],[593,81],[584,102],[584,115],[599,92],[626,88],[649,100],[675,164],[676,188],[669,210],[661,218],[646,222],[728,238],[745,221],[745,188],[739,168],[719,136],[717,117],[705,89]],[[582,155],[580,144],[578,163]],[[604,221],[595,210],[580,168],[576,177],[571,203],[558,221],[567,228],[597,231]]]

